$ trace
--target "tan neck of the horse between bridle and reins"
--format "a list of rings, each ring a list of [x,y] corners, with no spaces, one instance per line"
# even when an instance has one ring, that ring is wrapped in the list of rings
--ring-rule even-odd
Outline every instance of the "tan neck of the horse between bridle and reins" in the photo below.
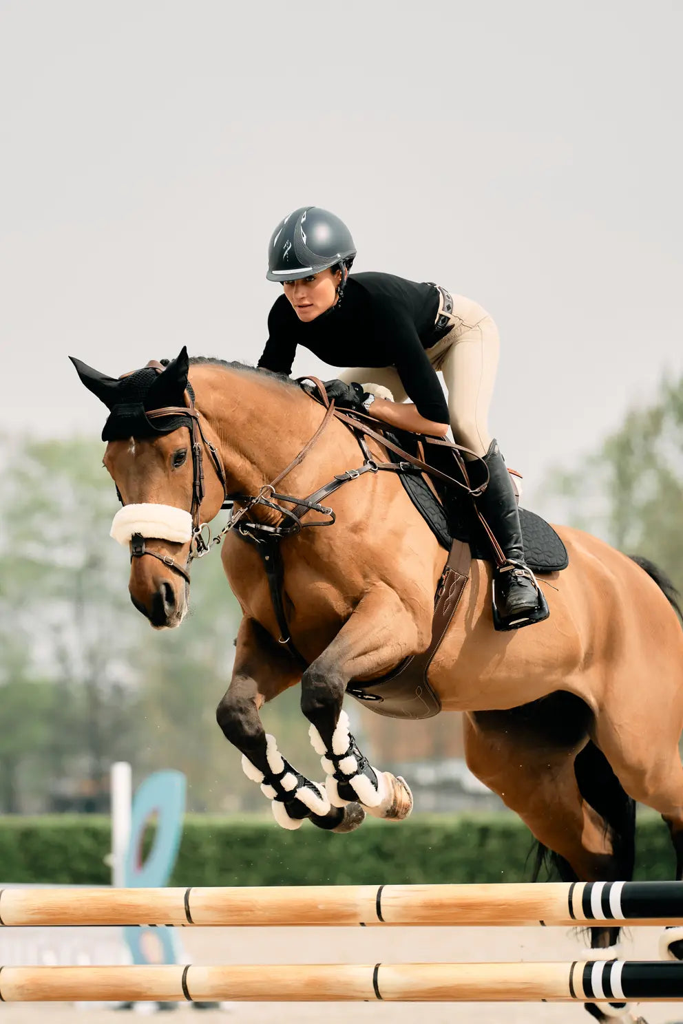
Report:
[[[207,365],[193,367],[190,376],[198,408],[217,435],[230,492],[258,494],[321,422],[319,406],[265,374]]]

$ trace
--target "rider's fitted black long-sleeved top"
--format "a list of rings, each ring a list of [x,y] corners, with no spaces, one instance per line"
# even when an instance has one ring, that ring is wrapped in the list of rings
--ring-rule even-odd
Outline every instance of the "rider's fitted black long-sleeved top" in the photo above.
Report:
[[[437,340],[437,311],[432,285],[391,273],[350,275],[342,301],[308,324],[281,295],[268,315],[268,340],[258,366],[289,375],[297,345],[303,345],[334,367],[394,367],[420,415],[449,423],[449,407],[425,351]]]

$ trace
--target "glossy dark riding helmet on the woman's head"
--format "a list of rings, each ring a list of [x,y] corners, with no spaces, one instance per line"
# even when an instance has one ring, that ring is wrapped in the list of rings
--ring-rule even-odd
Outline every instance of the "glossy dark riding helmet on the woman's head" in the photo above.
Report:
[[[298,281],[355,256],[346,224],[319,206],[302,206],[278,224],[268,246],[268,281]],[[343,282],[346,270],[342,269]]]

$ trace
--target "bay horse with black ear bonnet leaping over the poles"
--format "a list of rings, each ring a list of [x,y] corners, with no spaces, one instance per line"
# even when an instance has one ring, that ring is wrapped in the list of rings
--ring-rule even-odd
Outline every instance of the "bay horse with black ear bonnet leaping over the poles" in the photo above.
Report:
[[[350,472],[358,461],[353,431],[289,378],[189,359],[184,348],[164,367],[150,364],[118,379],[74,361],[110,410],[103,463],[123,505],[113,535],[131,545],[130,597],[155,629],[182,623],[193,557],[211,547],[205,524],[225,499],[233,503],[219,539],[242,621],[216,716],[276,821],[297,828],[309,819],[340,833],[357,827],[366,812],[405,817],[408,784],[370,764],[342,707],[351,681],[382,678],[431,638],[446,552],[397,474]],[[367,445],[370,468],[377,468],[385,450],[373,438]],[[314,500],[316,488],[339,478],[343,485],[325,505]],[[288,495],[276,501],[282,479]],[[310,495],[307,503],[296,497]],[[294,506],[305,510],[308,528],[280,542],[278,609],[270,556],[261,556],[258,539],[243,527],[276,531],[295,518]],[[470,770],[551,852],[563,880],[631,878],[635,801],[667,822],[680,879],[683,630],[676,592],[645,560],[579,529],[557,531],[569,560],[561,572],[539,577],[550,617],[497,631],[493,569],[474,559],[432,659],[431,686],[443,712],[464,713]],[[297,771],[259,717],[266,701],[296,685],[325,784]],[[670,954],[680,953],[683,936],[669,936]],[[615,938],[614,929],[592,930],[593,948]]]

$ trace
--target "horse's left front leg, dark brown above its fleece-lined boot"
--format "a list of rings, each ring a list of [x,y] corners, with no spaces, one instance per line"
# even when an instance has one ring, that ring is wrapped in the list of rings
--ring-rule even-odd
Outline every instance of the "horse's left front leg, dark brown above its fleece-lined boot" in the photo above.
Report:
[[[331,807],[325,787],[292,767],[261,722],[259,709],[295,685],[300,673],[290,653],[275,645],[258,623],[243,618],[230,687],[218,705],[216,719],[226,739],[242,753],[245,774],[270,800],[278,824],[298,828],[310,818],[321,828],[350,831],[362,821],[362,809],[357,804]]]

